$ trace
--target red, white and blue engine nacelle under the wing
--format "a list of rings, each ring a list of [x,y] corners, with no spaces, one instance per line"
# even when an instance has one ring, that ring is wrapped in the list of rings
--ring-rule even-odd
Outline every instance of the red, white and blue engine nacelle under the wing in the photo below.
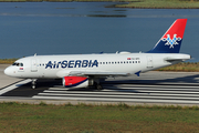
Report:
[[[65,88],[87,88],[93,85],[92,80],[85,76],[64,76],[62,82]]]

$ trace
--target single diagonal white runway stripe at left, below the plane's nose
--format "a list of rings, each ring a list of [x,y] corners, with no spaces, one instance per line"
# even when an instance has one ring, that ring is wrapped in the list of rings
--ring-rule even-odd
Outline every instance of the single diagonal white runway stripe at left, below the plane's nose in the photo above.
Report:
[[[29,82],[31,82],[31,80],[30,80],[30,79],[27,79],[27,80],[20,81],[20,82],[18,82],[18,83],[14,83],[14,84],[12,84],[12,85],[10,85],[10,86],[7,86],[7,88],[0,90],[0,95],[7,93],[7,92],[9,92],[9,91],[12,91],[12,90],[14,90],[14,89],[17,89],[17,88],[19,88],[19,86],[21,86],[21,85],[23,85],[23,84],[29,83]]]

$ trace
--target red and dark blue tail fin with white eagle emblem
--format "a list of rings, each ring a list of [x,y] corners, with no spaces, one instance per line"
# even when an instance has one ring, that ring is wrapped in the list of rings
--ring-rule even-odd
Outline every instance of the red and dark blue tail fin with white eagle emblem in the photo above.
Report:
[[[179,53],[187,19],[177,19],[147,53]]]

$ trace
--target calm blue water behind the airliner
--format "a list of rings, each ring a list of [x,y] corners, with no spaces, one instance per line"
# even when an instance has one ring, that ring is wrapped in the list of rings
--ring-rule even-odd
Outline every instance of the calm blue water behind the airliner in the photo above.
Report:
[[[146,52],[187,18],[181,53],[199,61],[198,9],[126,9],[116,2],[0,2],[0,59]],[[108,7],[108,8],[107,8]]]

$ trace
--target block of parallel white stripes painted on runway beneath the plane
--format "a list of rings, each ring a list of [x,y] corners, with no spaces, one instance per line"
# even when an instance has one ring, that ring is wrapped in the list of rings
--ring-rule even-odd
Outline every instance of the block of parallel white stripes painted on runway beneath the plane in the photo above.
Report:
[[[33,99],[199,104],[199,86],[196,84],[104,84],[103,86],[102,91],[49,88]]]

